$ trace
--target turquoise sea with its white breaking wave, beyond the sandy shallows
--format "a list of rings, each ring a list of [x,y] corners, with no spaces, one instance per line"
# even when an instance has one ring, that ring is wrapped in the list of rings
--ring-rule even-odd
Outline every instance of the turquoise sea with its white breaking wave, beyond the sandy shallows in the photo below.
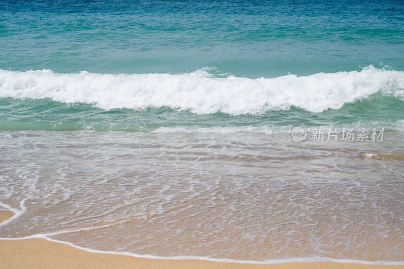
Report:
[[[1,130],[404,129],[400,1],[0,5]]]

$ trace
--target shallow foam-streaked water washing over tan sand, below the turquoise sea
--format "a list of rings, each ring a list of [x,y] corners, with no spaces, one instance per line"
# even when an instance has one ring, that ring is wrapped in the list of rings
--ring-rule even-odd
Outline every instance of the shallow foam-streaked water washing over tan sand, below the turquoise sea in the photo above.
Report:
[[[5,132],[0,200],[25,199],[26,210],[0,237],[158,256],[402,261],[402,139]]]

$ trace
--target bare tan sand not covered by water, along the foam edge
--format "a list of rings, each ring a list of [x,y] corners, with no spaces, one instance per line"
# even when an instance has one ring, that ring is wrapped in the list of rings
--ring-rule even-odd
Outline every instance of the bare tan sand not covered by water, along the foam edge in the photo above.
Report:
[[[13,212],[0,210],[0,222]],[[88,252],[45,239],[0,240],[0,268],[268,268],[268,269],[376,269],[403,268],[404,265],[305,262],[283,264],[245,264],[207,260],[136,258],[127,255]]]

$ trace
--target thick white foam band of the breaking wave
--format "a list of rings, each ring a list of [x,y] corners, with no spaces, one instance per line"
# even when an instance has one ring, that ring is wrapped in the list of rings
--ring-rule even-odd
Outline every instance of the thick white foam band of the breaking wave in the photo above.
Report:
[[[381,91],[404,97],[404,72],[376,69],[249,79],[186,74],[58,74],[0,70],[0,97],[91,103],[104,110],[168,106],[196,114],[257,114],[295,105],[311,112],[340,109]]]

